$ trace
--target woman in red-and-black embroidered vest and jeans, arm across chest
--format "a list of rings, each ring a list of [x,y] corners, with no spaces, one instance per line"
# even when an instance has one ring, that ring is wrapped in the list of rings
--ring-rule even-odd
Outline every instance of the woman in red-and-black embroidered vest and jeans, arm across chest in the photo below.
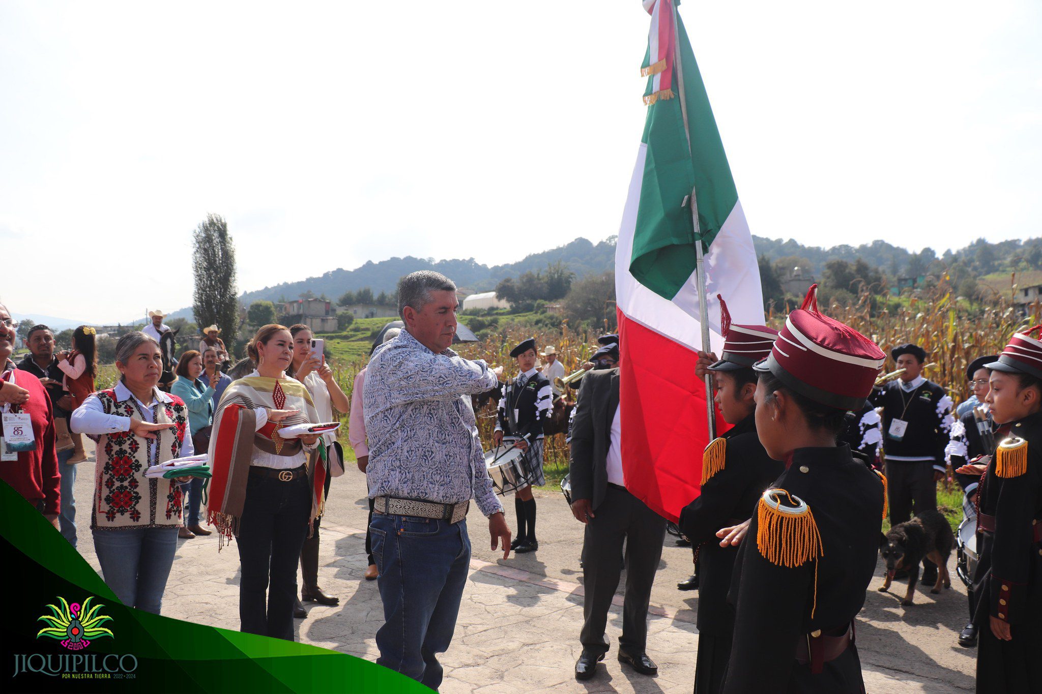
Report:
[[[156,387],[159,345],[127,333],[116,343],[116,387],[72,413],[71,428],[97,443],[91,531],[101,573],[127,607],[159,614],[181,525],[180,483],[147,478],[152,465],[194,454],[188,407]]]

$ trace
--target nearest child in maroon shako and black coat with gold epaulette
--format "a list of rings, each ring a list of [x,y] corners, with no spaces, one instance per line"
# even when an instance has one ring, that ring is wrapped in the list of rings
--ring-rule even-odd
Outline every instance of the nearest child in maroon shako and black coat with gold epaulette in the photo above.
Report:
[[[756,435],[786,470],[760,497],[735,563],[724,692],[864,692],[853,619],[875,570],[886,484],[837,438],[886,355],[823,315],[816,289],[753,366]],[[723,543],[738,539],[730,530]]]

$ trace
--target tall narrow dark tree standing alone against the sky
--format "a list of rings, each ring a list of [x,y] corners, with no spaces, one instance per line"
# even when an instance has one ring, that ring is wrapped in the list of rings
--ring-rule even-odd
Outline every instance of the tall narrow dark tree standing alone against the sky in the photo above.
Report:
[[[200,325],[221,327],[224,343],[234,354],[239,333],[235,289],[235,248],[228,224],[219,214],[207,214],[193,233],[195,294],[193,311]]]

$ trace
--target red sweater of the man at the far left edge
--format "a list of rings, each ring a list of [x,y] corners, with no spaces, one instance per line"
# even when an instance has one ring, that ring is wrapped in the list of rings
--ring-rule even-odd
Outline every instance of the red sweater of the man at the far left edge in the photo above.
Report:
[[[6,370],[0,367],[0,371]],[[32,420],[32,434],[36,439],[33,451],[18,454],[18,462],[0,462],[0,480],[24,496],[29,504],[44,503],[44,513],[57,514],[61,508],[61,474],[58,457],[54,451],[54,415],[51,399],[44,384],[32,374],[15,369],[15,383],[29,391],[24,405],[11,406],[13,412],[26,412]],[[0,432],[3,423],[0,422]]]

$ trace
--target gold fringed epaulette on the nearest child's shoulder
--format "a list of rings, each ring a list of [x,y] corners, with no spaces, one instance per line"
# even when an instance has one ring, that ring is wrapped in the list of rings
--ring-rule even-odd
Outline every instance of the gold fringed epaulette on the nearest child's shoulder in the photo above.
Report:
[[[792,506],[782,506],[785,494]],[[825,554],[811,507],[785,489],[768,489],[756,506],[756,548],[771,564],[795,568],[814,560],[814,605],[818,609],[818,558]]]

